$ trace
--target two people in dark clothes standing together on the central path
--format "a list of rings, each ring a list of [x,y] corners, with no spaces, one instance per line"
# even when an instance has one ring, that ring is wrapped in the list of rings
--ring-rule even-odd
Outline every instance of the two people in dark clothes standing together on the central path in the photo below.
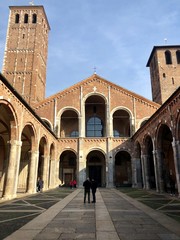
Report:
[[[84,187],[84,203],[86,202],[86,196],[88,195],[88,203],[90,203],[90,189],[92,190],[92,196],[93,196],[93,201],[92,203],[96,202],[96,189],[97,189],[97,183],[94,179],[90,181],[89,178],[86,179],[83,183]]]

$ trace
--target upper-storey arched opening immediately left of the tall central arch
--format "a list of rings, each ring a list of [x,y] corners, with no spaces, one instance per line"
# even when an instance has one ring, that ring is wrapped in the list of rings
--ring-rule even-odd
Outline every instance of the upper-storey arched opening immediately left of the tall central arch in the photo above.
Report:
[[[61,137],[79,137],[78,115],[73,110],[66,110],[61,115]]]

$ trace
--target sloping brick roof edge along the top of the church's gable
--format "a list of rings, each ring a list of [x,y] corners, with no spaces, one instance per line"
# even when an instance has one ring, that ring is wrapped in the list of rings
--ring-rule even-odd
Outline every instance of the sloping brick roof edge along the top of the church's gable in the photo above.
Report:
[[[81,82],[78,82],[78,83],[70,86],[69,88],[66,88],[66,89],[64,89],[64,90],[62,90],[62,91],[60,91],[60,92],[58,92],[58,93],[56,93],[52,96],[49,96],[48,98],[44,99],[43,101],[35,104],[34,108],[38,108],[39,106],[44,105],[47,102],[54,101],[54,99],[60,98],[65,93],[71,92],[73,89],[79,88],[80,86],[83,86],[83,85],[87,84],[88,82],[92,82],[92,81],[102,82],[103,84],[106,84],[106,85],[109,85],[112,88],[118,89],[119,91],[124,92],[124,93],[126,93],[126,94],[128,94],[128,95],[130,95],[134,98],[141,99],[142,101],[144,101],[146,103],[149,103],[149,104],[154,105],[156,107],[160,106],[159,104],[157,104],[157,103],[155,103],[155,102],[153,102],[153,101],[151,101],[151,100],[149,100],[149,99],[147,99],[147,98],[145,98],[141,95],[138,95],[138,94],[136,94],[132,91],[129,91],[129,90],[123,88],[123,87],[120,87],[119,85],[117,85],[115,83],[112,83],[112,82],[102,78],[101,76],[99,76],[97,74],[93,74],[90,77],[88,77],[87,79],[84,79]]]

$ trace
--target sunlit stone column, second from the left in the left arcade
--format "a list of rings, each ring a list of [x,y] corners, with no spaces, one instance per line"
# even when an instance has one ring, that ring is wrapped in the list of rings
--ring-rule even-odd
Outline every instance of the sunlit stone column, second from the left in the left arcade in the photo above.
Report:
[[[30,152],[30,169],[29,169],[29,179],[28,179],[28,193],[36,192],[36,182],[37,182],[37,165],[38,165],[38,151]]]

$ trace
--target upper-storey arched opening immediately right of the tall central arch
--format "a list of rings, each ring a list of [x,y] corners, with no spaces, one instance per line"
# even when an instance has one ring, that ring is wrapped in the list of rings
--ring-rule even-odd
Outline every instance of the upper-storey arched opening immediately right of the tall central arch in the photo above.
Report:
[[[130,116],[125,110],[117,110],[113,114],[114,137],[130,137]]]

